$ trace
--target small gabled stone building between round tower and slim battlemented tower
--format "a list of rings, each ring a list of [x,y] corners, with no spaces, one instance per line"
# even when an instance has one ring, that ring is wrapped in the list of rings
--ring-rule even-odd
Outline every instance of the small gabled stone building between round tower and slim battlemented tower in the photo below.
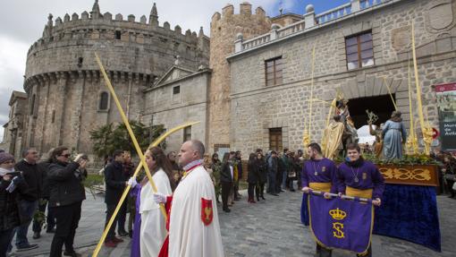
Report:
[[[166,139],[167,150],[179,150],[182,142],[198,139],[207,142],[208,89],[211,71],[201,65],[197,71],[177,64],[145,90],[144,124],[162,124],[173,128],[188,122],[199,122],[173,133]]]

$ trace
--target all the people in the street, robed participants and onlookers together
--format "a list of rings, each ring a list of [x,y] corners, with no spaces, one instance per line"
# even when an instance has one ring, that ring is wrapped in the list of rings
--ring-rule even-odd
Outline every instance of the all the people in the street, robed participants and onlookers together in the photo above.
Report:
[[[196,233],[202,236],[197,240],[198,244],[213,242],[205,251],[215,255],[205,256],[223,255],[216,206],[220,203],[224,212],[231,211],[235,201],[241,200],[243,178],[248,184],[246,200],[251,204],[266,201],[265,193],[276,197],[285,190],[295,192],[295,182],[304,193],[317,190],[357,196],[364,192],[358,196],[372,198],[374,205],[381,204],[383,176],[375,166],[362,159],[356,144],[347,146],[347,158],[336,167],[332,160],[323,157],[316,143],[308,145],[307,159],[302,150],[284,149],[279,153],[268,150],[265,154],[258,149],[249,153],[247,163],[242,162],[240,151],[225,152],[220,159],[217,153],[205,155],[204,145],[199,141],[186,143],[179,154],[174,151],[165,154],[158,147],[147,150],[146,163],[155,189],[143,173],[133,176],[135,165],[129,152],[115,150],[106,158],[103,168],[106,226],[126,186],[130,185],[132,189],[108,230],[107,247],[115,247],[123,242],[122,237],[130,236],[131,256],[181,256],[173,254],[186,251],[196,251],[194,253],[198,255],[202,254],[198,253],[199,248],[184,249],[190,246],[182,241],[185,236]],[[0,152],[0,257],[13,256],[14,236],[18,252],[38,247],[38,244],[30,244],[27,238],[31,224],[34,239],[40,238],[43,228],[46,233],[54,234],[50,256],[62,256],[62,253],[80,256],[74,251],[73,241],[81,203],[85,200],[82,183],[88,176],[85,168],[88,158],[82,154],[72,158],[66,147],[50,150],[47,157],[39,161],[38,151],[31,148],[23,150],[22,159],[16,163],[12,155]],[[455,158],[443,153],[436,154],[435,158],[442,163],[445,191],[454,197]],[[191,195],[193,191],[195,194]],[[200,209],[195,202],[200,202]],[[207,219],[200,210],[207,211]],[[128,224],[127,213],[130,213]],[[164,213],[167,219],[163,218]],[[201,227],[201,222],[212,226]],[[182,227],[183,224],[188,227]],[[325,251],[329,250],[317,245],[317,253]]]

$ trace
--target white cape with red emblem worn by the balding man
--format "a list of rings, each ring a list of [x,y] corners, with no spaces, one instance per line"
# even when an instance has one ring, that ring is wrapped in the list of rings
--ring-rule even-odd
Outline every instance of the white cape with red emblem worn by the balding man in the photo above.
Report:
[[[201,198],[212,201],[208,225],[201,218]],[[214,184],[204,167],[190,170],[174,191],[169,226],[169,257],[224,257]]]

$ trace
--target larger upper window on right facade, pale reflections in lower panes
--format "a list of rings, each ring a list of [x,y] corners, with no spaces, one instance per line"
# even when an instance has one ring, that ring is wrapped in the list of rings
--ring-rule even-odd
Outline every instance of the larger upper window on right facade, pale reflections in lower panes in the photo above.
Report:
[[[349,70],[374,65],[372,32],[345,39],[345,53]]]

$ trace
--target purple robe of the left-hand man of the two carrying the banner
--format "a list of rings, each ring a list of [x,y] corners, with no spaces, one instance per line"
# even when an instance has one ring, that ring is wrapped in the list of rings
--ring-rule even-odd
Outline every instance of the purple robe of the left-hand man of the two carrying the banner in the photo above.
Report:
[[[337,193],[337,167],[334,162],[329,158],[306,161],[301,171],[301,187],[309,183],[331,183],[330,193]]]

